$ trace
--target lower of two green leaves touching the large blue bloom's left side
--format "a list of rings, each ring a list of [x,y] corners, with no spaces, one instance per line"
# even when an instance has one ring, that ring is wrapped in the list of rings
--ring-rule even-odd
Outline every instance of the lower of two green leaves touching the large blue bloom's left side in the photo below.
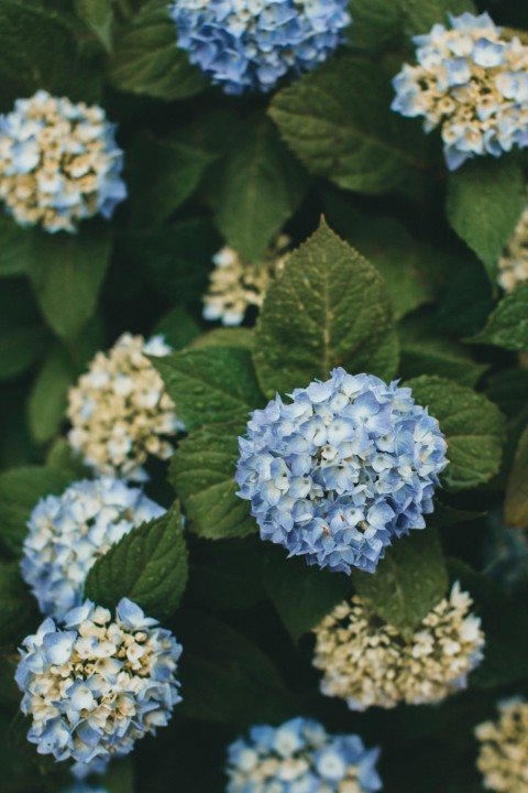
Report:
[[[244,422],[200,427],[184,438],[170,464],[170,477],[193,531],[209,540],[256,531],[250,504],[235,496],[238,436]]]

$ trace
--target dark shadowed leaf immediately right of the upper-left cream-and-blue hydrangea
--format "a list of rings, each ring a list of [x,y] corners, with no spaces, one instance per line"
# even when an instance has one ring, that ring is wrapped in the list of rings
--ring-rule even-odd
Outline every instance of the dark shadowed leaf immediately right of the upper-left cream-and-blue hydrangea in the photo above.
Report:
[[[140,132],[127,152],[132,225],[165,220],[193,195],[215,159],[201,149]]]

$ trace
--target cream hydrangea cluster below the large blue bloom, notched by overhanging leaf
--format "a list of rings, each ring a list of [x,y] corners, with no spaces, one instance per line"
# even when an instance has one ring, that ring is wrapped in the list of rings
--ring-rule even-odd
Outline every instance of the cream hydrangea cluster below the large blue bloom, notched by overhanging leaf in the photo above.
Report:
[[[484,647],[472,602],[454,584],[449,598],[406,638],[359,597],[343,601],[315,630],[321,693],[345,699],[352,710],[365,710],[438,703],[464,688]]]

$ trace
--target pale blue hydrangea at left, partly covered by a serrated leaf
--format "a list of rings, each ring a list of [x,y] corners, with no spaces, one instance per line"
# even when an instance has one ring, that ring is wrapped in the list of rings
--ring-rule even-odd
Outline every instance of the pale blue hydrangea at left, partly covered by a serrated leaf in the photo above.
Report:
[[[41,499],[28,522],[21,565],[41,611],[63,619],[79,606],[99,556],[164,511],[139,488],[108,478],[74,482],[62,496]]]

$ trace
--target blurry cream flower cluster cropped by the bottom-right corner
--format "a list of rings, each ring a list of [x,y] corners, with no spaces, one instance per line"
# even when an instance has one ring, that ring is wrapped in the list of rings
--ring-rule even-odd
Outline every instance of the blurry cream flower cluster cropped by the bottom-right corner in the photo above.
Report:
[[[476,765],[484,774],[484,787],[498,793],[528,790],[528,703],[520,698],[498,704],[497,721],[475,729],[481,742]]]

